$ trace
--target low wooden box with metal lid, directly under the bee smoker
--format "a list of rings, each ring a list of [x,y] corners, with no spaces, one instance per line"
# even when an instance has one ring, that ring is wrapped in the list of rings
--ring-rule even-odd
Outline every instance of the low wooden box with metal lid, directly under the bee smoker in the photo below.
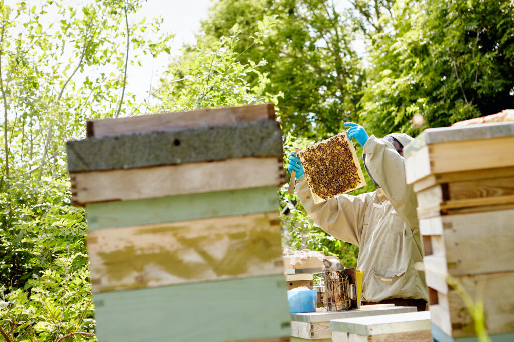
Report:
[[[414,307],[370,305],[370,308],[340,312],[309,312],[291,315],[291,336],[306,340],[331,338],[330,322],[338,318],[367,317],[415,312]]]

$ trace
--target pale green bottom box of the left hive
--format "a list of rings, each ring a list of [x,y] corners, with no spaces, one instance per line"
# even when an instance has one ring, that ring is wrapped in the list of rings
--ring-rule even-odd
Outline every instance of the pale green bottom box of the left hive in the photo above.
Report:
[[[283,275],[97,293],[94,304],[102,342],[221,342],[290,335]]]

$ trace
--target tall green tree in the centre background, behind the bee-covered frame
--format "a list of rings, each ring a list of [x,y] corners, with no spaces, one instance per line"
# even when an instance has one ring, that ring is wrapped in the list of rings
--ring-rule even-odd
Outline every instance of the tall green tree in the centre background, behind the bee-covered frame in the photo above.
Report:
[[[255,23],[262,13],[277,15],[277,26],[261,45],[250,46]],[[239,24],[242,39],[236,49],[247,58],[267,61],[264,70],[270,93],[280,100],[284,132],[320,140],[338,133],[341,122],[356,119],[361,65],[352,49],[351,23],[342,19],[332,1],[220,0],[203,23],[200,39],[227,35]],[[249,78],[251,83],[255,77]]]

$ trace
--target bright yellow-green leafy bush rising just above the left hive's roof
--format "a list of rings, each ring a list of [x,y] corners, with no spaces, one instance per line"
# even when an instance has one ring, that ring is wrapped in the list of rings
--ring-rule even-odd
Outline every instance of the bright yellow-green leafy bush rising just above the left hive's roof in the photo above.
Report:
[[[264,16],[257,21],[258,31],[253,33],[249,47],[262,43],[266,32],[276,23],[273,17]],[[162,76],[162,86],[153,92],[159,105],[150,111],[191,110],[208,107],[227,107],[263,102],[278,103],[282,92],[265,91],[269,84],[267,72],[260,70],[266,64],[261,59],[240,63],[237,52],[241,30],[234,24],[229,35],[213,39],[209,44],[200,43],[178,57]],[[246,81],[252,74],[255,82]]]

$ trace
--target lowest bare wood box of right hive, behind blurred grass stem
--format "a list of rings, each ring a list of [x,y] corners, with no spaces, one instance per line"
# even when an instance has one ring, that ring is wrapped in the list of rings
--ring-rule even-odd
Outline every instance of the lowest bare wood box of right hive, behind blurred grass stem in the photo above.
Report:
[[[473,301],[483,300],[488,334],[514,332],[514,272],[462,276],[456,280]],[[427,286],[431,287],[428,281]],[[448,288],[447,293],[438,294],[437,301],[430,303],[433,324],[453,338],[474,336],[473,319],[461,296],[453,288]]]

